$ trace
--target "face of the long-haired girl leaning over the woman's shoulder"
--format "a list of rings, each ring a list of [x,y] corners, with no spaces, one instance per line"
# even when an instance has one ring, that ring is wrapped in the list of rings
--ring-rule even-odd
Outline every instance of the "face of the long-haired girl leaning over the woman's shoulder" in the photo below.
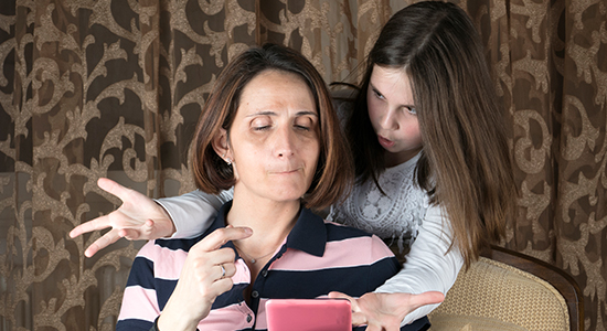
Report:
[[[366,106],[377,140],[386,151],[386,167],[408,161],[422,150],[411,82],[402,68],[373,66]]]

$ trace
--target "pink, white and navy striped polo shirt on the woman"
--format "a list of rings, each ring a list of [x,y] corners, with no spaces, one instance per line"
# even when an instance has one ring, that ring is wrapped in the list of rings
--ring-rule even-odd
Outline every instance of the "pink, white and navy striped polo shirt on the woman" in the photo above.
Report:
[[[232,202],[226,203],[212,226],[196,238],[157,239],[141,248],[130,270],[116,330],[152,328],[177,286],[189,249],[225,226],[231,205]],[[232,242],[224,247],[234,248]],[[309,299],[330,291],[360,297],[400,268],[379,237],[324,222],[307,209],[301,210],[285,243],[259,271],[248,305],[243,293],[251,284],[251,273],[237,253],[235,264],[233,288],[215,299],[199,330],[266,330],[264,308],[268,299]]]

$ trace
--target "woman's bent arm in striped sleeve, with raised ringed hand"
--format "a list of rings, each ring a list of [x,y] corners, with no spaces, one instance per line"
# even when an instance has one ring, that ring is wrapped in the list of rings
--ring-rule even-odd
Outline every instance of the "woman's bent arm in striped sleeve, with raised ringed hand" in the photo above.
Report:
[[[182,249],[148,242],[130,269],[116,330],[150,330],[158,316],[159,330],[195,330],[214,299],[233,286],[235,253],[221,248],[222,244],[251,234],[246,227],[216,229],[192,246],[187,256]]]

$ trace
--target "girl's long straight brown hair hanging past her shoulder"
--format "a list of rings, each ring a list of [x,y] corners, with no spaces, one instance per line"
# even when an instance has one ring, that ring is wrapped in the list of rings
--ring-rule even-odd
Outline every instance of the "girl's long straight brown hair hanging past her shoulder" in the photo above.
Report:
[[[358,181],[377,184],[385,164],[366,108],[373,66],[402,68],[411,79],[423,140],[416,182],[450,220],[450,249],[469,266],[504,235],[517,205],[505,117],[480,36],[466,12],[446,2],[417,2],[385,24],[348,126]]]

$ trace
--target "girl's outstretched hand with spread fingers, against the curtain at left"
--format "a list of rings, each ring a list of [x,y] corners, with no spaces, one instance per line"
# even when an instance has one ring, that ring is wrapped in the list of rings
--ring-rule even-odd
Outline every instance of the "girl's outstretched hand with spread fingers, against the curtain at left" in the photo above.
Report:
[[[121,237],[129,241],[149,241],[170,236],[174,233],[171,217],[153,200],[107,178],[100,178],[97,185],[119,197],[123,205],[107,215],[83,223],[70,232],[70,236],[75,238],[87,232],[111,227],[109,232],[86,248],[85,256],[92,257],[99,249],[107,247]]]

